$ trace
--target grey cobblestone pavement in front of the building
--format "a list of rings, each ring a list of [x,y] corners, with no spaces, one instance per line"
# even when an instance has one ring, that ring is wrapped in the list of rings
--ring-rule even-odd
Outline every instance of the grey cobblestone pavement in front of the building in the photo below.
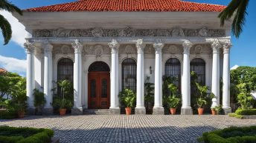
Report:
[[[203,132],[230,126],[256,125],[256,119],[228,116],[28,116],[0,120],[0,125],[47,127],[60,142],[196,142]]]

